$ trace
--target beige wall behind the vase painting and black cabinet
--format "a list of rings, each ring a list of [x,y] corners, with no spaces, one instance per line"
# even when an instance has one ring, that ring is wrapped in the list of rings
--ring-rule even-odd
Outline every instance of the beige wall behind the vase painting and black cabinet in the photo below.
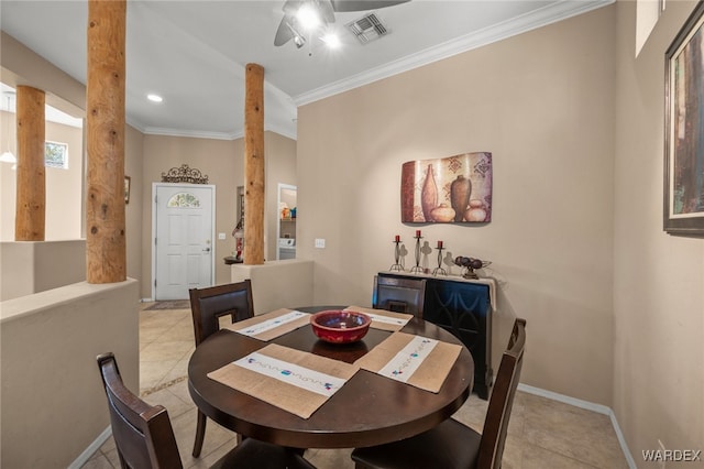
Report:
[[[600,9],[299,108],[298,253],[316,261],[316,304],[370,305],[394,234],[409,248],[420,228],[493,261],[494,357],[525,317],[521,381],[610,405],[614,24]],[[402,164],[474,151],[493,153],[493,221],[404,226]]]

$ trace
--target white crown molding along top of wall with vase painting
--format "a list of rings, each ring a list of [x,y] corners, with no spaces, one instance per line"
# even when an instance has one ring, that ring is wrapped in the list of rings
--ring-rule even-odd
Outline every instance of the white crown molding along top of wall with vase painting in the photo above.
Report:
[[[380,67],[371,68],[350,78],[300,94],[294,97],[294,102],[296,106],[302,106],[318,101],[473,48],[479,48],[517,34],[547,26],[558,21],[606,7],[615,1],[616,0],[586,0],[559,1],[557,3],[551,3],[540,10],[526,13],[513,20],[491,25],[475,33],[458,37],[453,41],[448,41],[435,47],[426,48],[417,54],[384,64]]]

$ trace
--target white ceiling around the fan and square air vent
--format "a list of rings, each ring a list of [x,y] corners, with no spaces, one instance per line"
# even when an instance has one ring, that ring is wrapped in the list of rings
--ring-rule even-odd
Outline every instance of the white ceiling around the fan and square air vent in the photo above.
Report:
[[[265,69],[265,129],[296,138],[296,108],[614,0],[411,0],[372,10],[391,33],[362,45],[336,13],[342,46],[274,46],[284,0],[128,1],[127,119],[144,133],[235,139],[244,67]],[[2,0],[2,30],[86,83],[85,0]],[[31,85],[31,84],[30,84]],[[146,95],[164,97],[153,103]]]

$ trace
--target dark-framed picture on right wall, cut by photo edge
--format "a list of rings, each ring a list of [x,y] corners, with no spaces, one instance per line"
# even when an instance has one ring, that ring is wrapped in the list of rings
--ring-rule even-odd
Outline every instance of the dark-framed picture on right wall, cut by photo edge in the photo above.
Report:
[[[704,2],[666,52],[663,229],[704,236]]]

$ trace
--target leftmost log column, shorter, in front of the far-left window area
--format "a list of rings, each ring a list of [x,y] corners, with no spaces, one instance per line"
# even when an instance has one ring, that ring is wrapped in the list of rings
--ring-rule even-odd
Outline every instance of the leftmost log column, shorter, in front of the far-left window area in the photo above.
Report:
[[[41,89],[18,86],[15,241],[44,241],[46,223],[45,102],[46,96]]]

